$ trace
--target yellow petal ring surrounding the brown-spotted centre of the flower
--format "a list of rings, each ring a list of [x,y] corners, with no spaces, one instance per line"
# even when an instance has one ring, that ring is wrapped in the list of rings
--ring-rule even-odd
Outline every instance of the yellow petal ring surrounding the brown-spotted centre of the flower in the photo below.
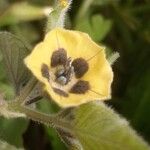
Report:
[[[51,70],[51,58],[54,51],[64,49],[72,60],[82,58],[88,63],[88,70],[84,71],[80,80],[90,85],[90,90],[81,94],[64,93],[52,87],[43,76],[41,67],[47,66]],[[82,32],[56,28],[49,32],[44,41],[39,43],[32,53],[25,59],[25,64],[32,73],[45,84],[45,89],[51,98],[62,107],[77,106],[93,100],[110,98],[113,73],[105,58],[104,47],[98,46],[91,38]],[[82,66],[83,67],[83,66]],[[61,92],[61,93],[60,93]],[[58,94],[60,93],[60,94]]]

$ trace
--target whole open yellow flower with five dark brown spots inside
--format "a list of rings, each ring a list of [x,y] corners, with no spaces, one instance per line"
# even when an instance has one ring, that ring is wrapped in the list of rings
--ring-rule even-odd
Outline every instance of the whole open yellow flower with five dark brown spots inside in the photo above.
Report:
[[[85,33],[53,29],[25,64],[62,107],[110,98],[113,73],[104,47]]]

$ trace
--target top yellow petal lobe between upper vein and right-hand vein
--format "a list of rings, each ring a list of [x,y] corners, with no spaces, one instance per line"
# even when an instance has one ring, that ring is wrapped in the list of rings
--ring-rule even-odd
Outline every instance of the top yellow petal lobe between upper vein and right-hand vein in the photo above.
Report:
[[[67,50],[68,56],[72,59],[82,57],[88,60],[104,49],[104,47],[94,43],[88,34],[79,31],[56,28],[47,34],[45,41],[50,43],[52,37],[57,40],[58,47]]]

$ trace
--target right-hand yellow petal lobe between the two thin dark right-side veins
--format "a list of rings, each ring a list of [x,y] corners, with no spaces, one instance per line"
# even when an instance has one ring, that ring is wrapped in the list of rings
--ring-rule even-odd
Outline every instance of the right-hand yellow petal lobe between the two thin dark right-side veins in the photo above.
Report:
[[[89,70],[82,80],[90,81],[91,91],[99,94],[99,99],[110,99],[113,72],[102,51],[88,61]]]

